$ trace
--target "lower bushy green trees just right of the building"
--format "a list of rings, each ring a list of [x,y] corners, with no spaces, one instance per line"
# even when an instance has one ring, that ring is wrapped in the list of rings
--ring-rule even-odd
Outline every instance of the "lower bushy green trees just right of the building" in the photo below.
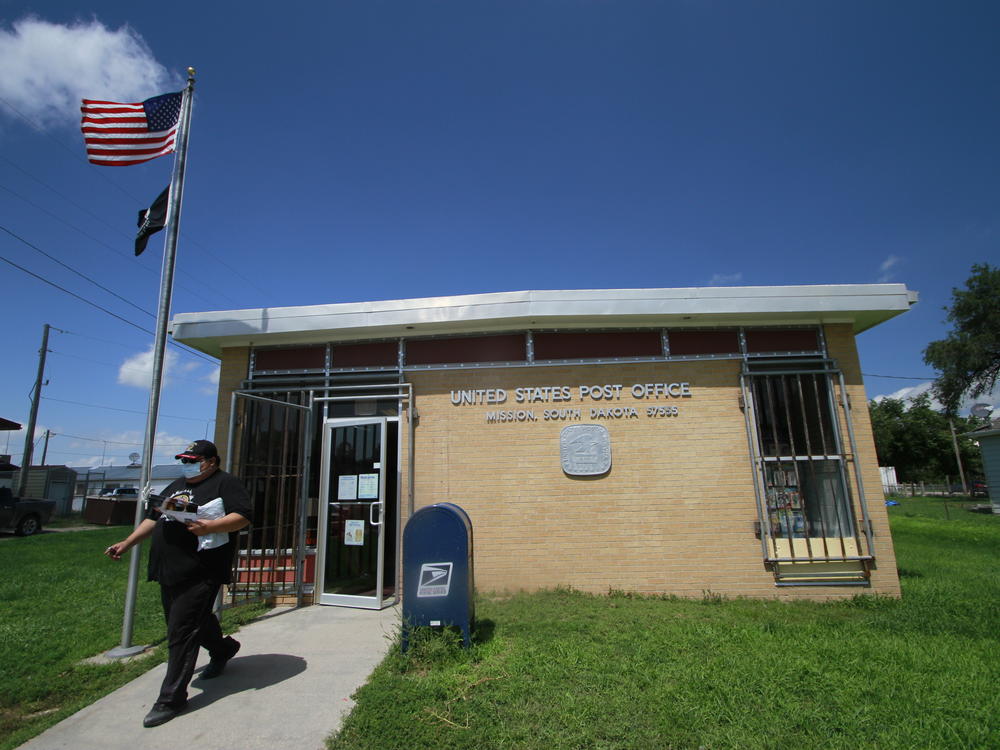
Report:
[[[875,436],[879,466],[895,466],[901,482],[958,481],[958,463],[951,441],[951,422],[958,436],[958,449],[966,477],[981,476],[982,457],[972,440],[962,433],[975,429],[974,417],[949,419],[931,408],[926,393],[907,404],[901,399],[884,398],[868,405]]]

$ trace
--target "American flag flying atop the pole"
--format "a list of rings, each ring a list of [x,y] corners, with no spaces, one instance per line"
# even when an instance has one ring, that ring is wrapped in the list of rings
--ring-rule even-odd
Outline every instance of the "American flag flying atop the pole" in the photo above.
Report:
[[[177,138],[182,93],[136,104],[84,99],[80,129],[87,159],[105,167],[127,167],[169,154]]]

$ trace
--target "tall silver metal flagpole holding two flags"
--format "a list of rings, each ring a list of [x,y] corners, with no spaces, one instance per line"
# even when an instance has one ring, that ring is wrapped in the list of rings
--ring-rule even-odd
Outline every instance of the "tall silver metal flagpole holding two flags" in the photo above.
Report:
[[[153,443],[156,437],[156,416],[160,407],[160,385],[163,378],[163,357],[167,347],[167,321],[170,317],[170,297],[174,286],[174,259],[177,254],[177,234],[181,223],[181,201],[184,197],[184,172],[187,167],[188,135],[191,132],[191,104],[194,97],[194,68],[188,68],[188,85],[181,102],[180,123],[177,132],[177,151],[174,172],[170,178],[170,200],[167,205],[166,237],[163,242],[163,266],[160,271],[160,303],[156,314],[156,337],[153,343],[153,379],[149,389],[149,409],[146,412],[146,439],[142,446],[142,470],[139,477],[141,493],[135,504],[135,525],[145,517],[145,498],[149,493],[149,480],[153,470]],[[121,645],[107,652],[111,658],[131,656],[143,651],[145,646],[132,645],[132,626],[135,619],[135,599],[139,587],[139,559],[142,544],[131,549],[128,569],[128,588],[125,591],[125,614],[122,618]]]

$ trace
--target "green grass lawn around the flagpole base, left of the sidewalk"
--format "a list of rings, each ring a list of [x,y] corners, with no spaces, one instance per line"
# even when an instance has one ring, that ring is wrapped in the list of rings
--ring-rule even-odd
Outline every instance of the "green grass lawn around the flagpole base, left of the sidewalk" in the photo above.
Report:
[[[121,640],[127,558],[104,549],[128,529],[70,531],[0,540],[0,750],[17,747],[60,719],[134,679],[166,658],[157,648],[140,660],[83,664]],[[143,545],[144,549],[148,545]],[[135,643],[165,636],[159,586],[142,583]],[[261,612],[226,612],[223,626]]]

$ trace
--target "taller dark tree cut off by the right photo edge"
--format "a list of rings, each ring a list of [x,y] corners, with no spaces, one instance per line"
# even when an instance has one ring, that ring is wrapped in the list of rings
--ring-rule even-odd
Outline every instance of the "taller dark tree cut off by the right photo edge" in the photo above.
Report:
[[[952,289],[948,337],[924,349],[924,362],[939,373],[934,395],[949,414],[962,398],[989,393],[1000,376],[1000,268],[972,266],[965,289]]]

